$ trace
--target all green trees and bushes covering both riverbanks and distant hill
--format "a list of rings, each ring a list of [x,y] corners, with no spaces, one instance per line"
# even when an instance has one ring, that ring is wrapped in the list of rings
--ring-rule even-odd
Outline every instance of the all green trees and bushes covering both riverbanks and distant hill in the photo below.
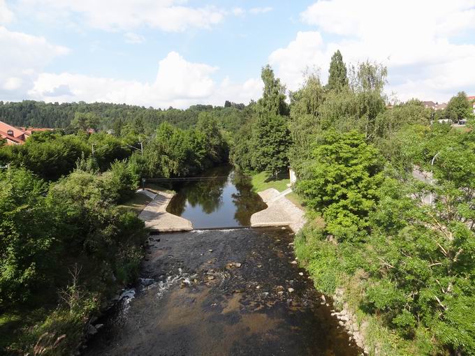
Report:
[[[263,94],[249,105],[0,103],[9,124],[57,128],[0,148],[9,165],[0,172],[0,348],[73,349],[90,316],[138,276],[147,232],[119,205],[140,179],[229,162],[271,176],[295,170],[307,214],[295,253],[316,289],[339,292],[367,324],[372,353],[475,355],[475,133],[465,93],[437,116],[417,99],[389,104],[386,68],[347,66],[339,51],[327,84],[307,73],[288,92],[270,66],[261,77]]]

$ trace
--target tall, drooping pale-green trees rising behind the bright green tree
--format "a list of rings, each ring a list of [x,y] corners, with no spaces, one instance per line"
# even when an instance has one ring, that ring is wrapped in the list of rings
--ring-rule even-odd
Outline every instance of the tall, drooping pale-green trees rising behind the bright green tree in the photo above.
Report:
[[[386,112],[386,97],[383,94],[386,68],[364,62],[357,68],[351,67],[351,80],[346,80],[344,64],[337,54],[335,56],[335,76],[332,80],[335,83],[339,81],[339,84],[332,85],[337,89],[328,90],[328,86],[324,89],[318,75],[309,73],[302,88],[291,93],[288,128],[295,144],[289,156],[291,166],[298,174],[311,157],[312,145],[323,131],[357,130],[364,133],[367,140],[379,140],[381,135],[400,125],[399,121],[396,123],[398,118],[394,119],[393,125],[388,125],[386,117],[381,117]]]

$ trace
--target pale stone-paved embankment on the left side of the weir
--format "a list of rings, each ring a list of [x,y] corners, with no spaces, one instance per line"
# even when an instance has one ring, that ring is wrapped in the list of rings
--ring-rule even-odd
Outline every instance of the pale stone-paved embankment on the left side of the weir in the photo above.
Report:
[[[149,191],[143,191],[150,196]],[[166,211],[168,203],[174,194],[159,191],[149,202],[138,216],[145,221],[145,227],[152,231],[170,232],[170,231],[190,231],[193,230],[191,221],[180,216],[170,214]],[[152,198],[152,196],[150,196]]]

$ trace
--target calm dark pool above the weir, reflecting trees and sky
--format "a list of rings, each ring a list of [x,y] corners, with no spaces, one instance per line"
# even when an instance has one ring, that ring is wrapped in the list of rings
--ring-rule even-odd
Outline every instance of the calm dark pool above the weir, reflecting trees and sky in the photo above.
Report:
[[[249,177],[229,166],[209,170],[203,177],[206,179],[175,186],[177,195],[167,208],[187,218],[194,228],[247,226],[251,215],[266,207],[252,191]]]

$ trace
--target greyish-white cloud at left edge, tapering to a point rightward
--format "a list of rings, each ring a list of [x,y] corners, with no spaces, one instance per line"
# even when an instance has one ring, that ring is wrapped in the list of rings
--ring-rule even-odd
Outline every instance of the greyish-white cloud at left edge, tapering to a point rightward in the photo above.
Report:
[[[52,45],[45,38],[8,31],[0,26],[0,97],[22,98],[36,75],[52,59],[67,54],[68,48]]]

